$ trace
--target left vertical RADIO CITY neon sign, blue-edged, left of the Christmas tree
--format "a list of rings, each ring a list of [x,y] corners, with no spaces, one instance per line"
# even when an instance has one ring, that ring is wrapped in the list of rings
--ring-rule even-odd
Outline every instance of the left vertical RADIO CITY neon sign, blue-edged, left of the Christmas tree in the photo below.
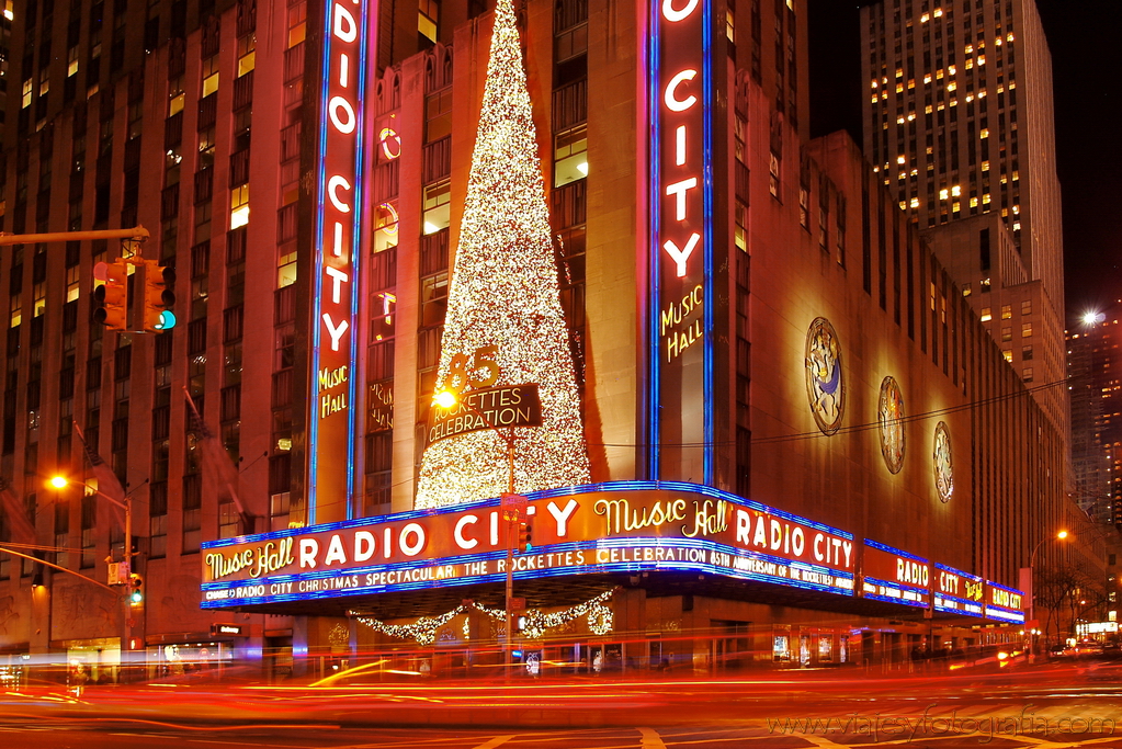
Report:
[[[355,493],[356,362],[362,242],[362,137],[369,8],[377,0],[328,0],[320,99],[307,518],[350,517]],[[320,499],[320,498],[323,499]],[[343,514],[346,508],[346,515]],[[323,517],[327,515],[328,517]]]

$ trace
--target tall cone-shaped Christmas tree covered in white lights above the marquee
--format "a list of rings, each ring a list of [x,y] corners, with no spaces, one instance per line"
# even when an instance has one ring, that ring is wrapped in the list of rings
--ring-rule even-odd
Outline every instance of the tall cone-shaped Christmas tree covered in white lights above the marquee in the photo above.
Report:
[[[421,463],[419,508],[505,492],[512,434],[517,492],[590,480],[511,0],[498,0],[495,9],[487,83],[449,288],[438,391],[456,387],[462,380],[456,372],[462,372],[465,358],[469,367],[475,366],[478,362],[471,358],[485,346],[497,348],[494,386],[539,385],[542,425],[505,429],[505,434],[487,428],[429,445]],[[463,391],[469,394],[470,387]]]

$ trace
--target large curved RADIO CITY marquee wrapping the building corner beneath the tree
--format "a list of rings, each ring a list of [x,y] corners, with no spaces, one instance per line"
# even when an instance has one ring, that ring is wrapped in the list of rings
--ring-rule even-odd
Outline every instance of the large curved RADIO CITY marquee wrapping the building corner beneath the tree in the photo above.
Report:
[[[657,489],[655,489],[657,487]],[[690,571],[853,594],[853,536],[697,484],[614,482],[536,492],[518,580]],[[208,542],[203,608],[499,582],[497,499]]]

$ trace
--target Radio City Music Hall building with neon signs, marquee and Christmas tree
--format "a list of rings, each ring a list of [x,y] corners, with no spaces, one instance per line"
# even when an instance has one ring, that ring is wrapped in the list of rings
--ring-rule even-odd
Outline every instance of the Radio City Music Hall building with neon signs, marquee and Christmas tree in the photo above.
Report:
[[[13,20],[4,231],[151,228],[181,322],[86,322],[114,243],[0,263],[0,468],[34,534],[0,538],[96,580],[121,557],[95,499],[43,484],[94,477],[77,422],[145,585],[122,622],[0,556],[9,657],[494,644],[512,480],[526,647],[1019,638],[1064,437],[856,145],[809,139],[802,2],[165,4],[121,11],[158,34],[117,71],[83,20],[46,90],[19,45],[65,13]]]

